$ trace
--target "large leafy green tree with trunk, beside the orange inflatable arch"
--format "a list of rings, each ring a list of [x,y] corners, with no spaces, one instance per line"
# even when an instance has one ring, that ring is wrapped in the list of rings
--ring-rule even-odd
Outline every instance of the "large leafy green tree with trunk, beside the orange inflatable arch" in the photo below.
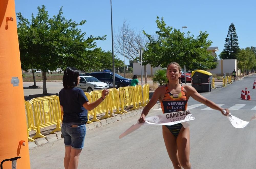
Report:
[[[102,53],[95,41],[105,40],[106,35],[86,38],[86,33],[77,28],[86,21],[67,20],[62,16],[62,7],[52,18],[44,5],[37,9],[37,16],[31,15],[31,23],[17,13],[20,57],[23,69],[42,70],[43,94],[47,94],[46,73],[67,66],[84,71],[98,67]]]

